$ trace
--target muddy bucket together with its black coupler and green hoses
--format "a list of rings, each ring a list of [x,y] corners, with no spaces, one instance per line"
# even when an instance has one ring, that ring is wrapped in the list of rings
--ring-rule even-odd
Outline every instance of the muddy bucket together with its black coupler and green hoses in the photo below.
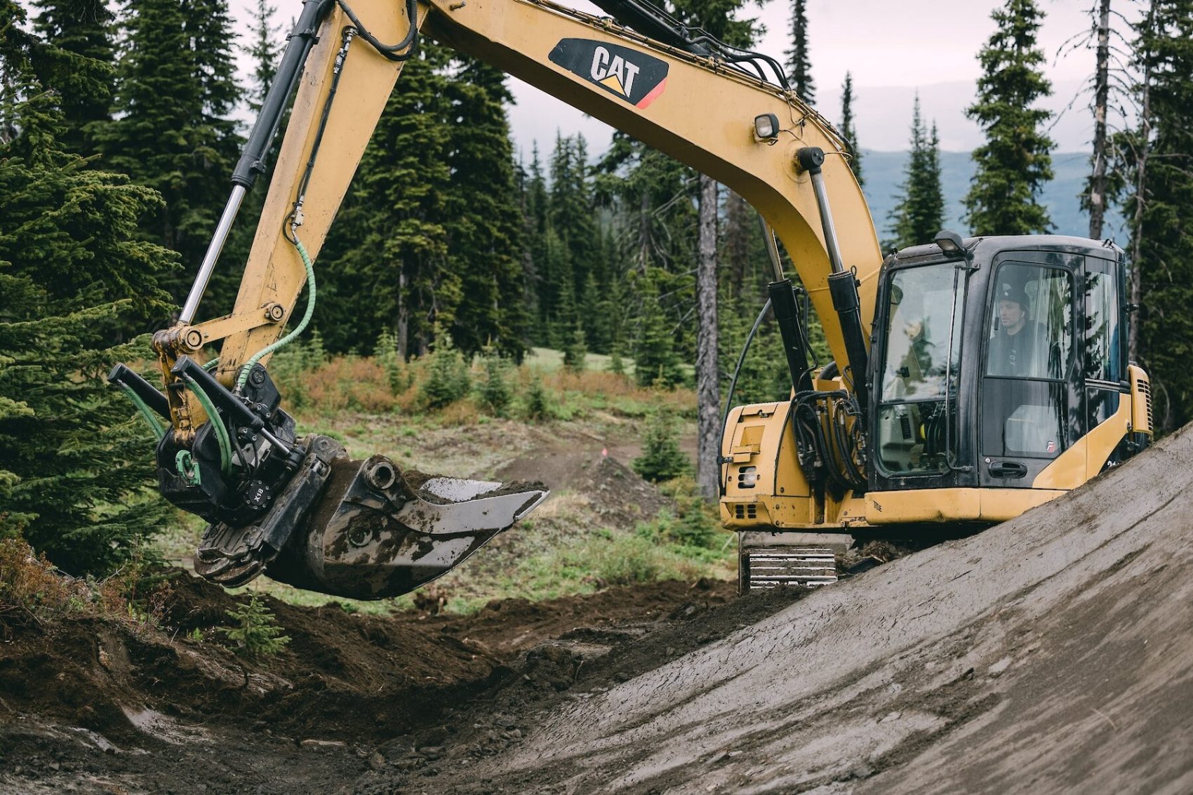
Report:
[[[193,437],[163,431],[157,486],[211,523],[194,571],[225,587],[264,572],[334,596],[398,596],[450,572],[549,493],[403,474],[385,456],[351,461],[330,437],[298,438],[260,364],[235,394],[186,357],[172,372],[204,396],[209,421]],[[166,398],[128,368],[110,380],[169,419]]]

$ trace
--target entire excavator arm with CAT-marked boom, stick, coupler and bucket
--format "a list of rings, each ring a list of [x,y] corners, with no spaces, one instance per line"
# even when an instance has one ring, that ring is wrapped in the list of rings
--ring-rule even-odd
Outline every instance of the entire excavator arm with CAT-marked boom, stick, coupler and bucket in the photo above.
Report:
[[[298,437],[265,368],[303,286],[315,292],[313,263],[420,33],[736,191],[786,247],[836,360],[859,370],[880,254],[840,136],[793,92],[742,68],[749,58],[641,0],[604,1],[638,30],[545,0],[305,0],[179,322],[154,338],[165,395],[126,368],[111,376],[168,421],[159,485],[211,522],[200,574],[240,585],[266,572],[327,593],[395,596],[450,571],[546,497],[538,485],[420,482],[383,456],[352,461],[334,439]],[[291,92],[233,312],[194,322]],[[772,260],[781,315],[780,303],[795,304]],[[784,340],[793,381],[806,378],[792,356],[798,334],[785,331]],[[198,364],[198,352],[216,344],[217,366]]]

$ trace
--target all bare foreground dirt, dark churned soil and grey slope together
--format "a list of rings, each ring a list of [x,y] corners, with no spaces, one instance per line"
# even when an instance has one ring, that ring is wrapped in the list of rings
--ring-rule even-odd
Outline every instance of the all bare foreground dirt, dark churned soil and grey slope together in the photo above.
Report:
[[[814,592],[662,583],[172,634],[4,614],[4,793],[1189,793],[1193,433]]]

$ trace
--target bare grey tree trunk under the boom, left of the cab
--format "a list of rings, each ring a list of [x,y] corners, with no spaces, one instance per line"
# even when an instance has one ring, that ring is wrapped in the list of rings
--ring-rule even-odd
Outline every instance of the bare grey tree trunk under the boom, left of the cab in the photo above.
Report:
[[[700,174],[700,238],[696,278],[696,480],[709,501],[719,497],[721,389],[717,383],[717,183]]]

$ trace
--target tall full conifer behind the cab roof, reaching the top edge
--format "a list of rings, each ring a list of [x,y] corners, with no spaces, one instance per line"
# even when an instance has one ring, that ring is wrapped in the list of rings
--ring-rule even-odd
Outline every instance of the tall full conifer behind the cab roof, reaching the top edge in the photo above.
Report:
[[[978,54],[978,98],[965,111],[985,131],[985,143],[973,150],[968,220],[975,235],[1044,233],[1052,224],[1038,199],[1052,179],[1055,144],[1041,127],[1052,112],[1032,107],[1052,93],[1036,45],[1044,13],[1034,0],[1007,0],[991,18],[999,29]]]

